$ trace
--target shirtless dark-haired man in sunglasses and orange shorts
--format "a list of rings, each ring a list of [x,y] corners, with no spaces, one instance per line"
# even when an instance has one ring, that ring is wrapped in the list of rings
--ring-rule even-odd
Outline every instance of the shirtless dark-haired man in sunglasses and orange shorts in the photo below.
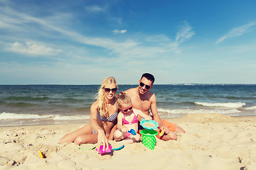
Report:
[[[156,108],[156,96],[149,91],[152,89],[153,84],[154,76],[149,73],[145,73],[139,80],[139,86],[128,89],[125,91],[125,93],[128,94],[132,99],[133,108],[137,108],[147,115],[149,115],[149,108],[151,109],[154,120],[159,123],[158,132],[164,131],[164,135],[162,137],[159,136],[159,133],[156,137],[165,141],[177,140],[177,135],[175,132],[185,132],[185,130],[167,120],[161,120]],[[141,119],[142,118],[139,116],[139,120]]]

